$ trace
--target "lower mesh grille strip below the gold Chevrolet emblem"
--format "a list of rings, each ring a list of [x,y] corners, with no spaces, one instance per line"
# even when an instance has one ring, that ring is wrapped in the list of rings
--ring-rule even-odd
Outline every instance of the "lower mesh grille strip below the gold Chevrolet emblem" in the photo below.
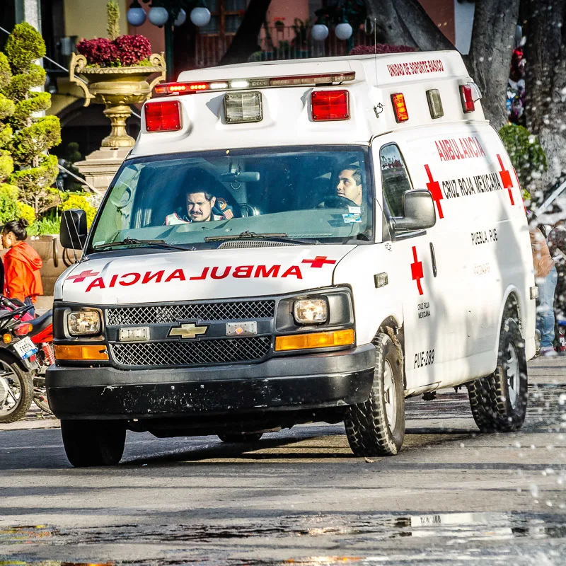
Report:
[[[112,344],[112,357],[123,366],[204,366],[255,362],[270,351],[269,336],[221,338],[194,342]]]

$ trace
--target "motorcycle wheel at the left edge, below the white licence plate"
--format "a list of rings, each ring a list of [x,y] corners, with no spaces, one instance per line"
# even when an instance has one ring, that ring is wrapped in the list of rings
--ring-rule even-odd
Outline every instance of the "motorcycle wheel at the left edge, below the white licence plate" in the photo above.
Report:
[[[0,360],[0,422],[16,422],[33,400],[33,381],[18,364]]]

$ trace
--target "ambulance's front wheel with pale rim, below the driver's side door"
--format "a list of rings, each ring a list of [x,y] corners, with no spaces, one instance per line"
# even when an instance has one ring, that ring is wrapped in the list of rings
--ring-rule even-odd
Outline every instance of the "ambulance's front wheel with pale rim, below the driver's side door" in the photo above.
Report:
[[[376,367],[369,399],[352,405],[344,423],[356,456],[394,456],[405,437],[403,368],[388,335],[378,334],[374,345]]]

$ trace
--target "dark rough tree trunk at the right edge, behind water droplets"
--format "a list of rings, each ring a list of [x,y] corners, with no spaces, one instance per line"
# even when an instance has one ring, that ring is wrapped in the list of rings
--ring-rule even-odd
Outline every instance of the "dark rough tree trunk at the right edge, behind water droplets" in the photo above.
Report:
[[[566,0],[522,0],[526,122],[549,157],[545,178],[566,170]]]

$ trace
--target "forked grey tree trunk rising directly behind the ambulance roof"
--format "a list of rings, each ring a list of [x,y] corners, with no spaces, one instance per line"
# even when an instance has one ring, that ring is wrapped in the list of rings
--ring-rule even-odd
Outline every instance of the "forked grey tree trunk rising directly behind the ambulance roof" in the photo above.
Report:
[[[455,49],[417,0],[366,2],[381,42],[422,51]],[[518,16],[519,0],[476,2],[470,54],[464,57],[470,76],[483,93],[485,115],[497,129],[507,123],[505,93]]]

